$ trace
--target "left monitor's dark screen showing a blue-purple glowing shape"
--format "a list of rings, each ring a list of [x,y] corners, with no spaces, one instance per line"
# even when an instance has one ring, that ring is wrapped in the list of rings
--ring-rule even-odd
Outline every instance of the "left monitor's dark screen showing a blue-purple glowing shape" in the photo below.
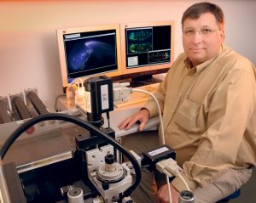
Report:
[[[116,31],[63,35],[67,80],[118,70]]]

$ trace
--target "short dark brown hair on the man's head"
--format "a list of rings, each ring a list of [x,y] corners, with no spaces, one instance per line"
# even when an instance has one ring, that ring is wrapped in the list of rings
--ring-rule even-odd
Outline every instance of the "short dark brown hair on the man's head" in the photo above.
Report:
[[[201,14],[211,13],[215,16],[219,28],[224,27],[224,13],[218,5],[213,3],[195,3],[185,10],[182,18],[182,26],[184,21],[187,19],[197,20],[200,18]]]

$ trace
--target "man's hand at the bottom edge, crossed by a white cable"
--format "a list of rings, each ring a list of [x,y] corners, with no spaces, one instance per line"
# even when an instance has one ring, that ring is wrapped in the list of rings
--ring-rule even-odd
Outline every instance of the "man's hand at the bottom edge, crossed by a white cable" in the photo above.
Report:
[[[179,192],[174,188],[172,183],[170,183],[171,193],[172,193],[172,203],[178,202]],[[169,193],[167,184],[160,187],[157,193],[157,203],[169,203]]]

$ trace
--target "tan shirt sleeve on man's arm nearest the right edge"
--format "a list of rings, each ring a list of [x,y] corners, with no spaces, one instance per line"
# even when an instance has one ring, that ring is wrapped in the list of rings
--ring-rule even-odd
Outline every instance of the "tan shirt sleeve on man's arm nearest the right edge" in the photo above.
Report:
[[[236,162],[236,155],[253,116],[255,89],[253,71],[241,69],[230,71],[218,86],[207,116],[207,131],[190,161],[183,163],[182,176],[190,189],[211,183],[230,168],[246,167],[246,163]],[[181,178],[172,184],[185,189]]]

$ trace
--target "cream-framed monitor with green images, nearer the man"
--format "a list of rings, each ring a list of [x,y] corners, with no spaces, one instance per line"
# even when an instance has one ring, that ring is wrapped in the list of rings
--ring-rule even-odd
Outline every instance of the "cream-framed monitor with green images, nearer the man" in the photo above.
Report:
[[[174,21],[120,25],[122,76],[134,79],[166,72],[174,59]]]

